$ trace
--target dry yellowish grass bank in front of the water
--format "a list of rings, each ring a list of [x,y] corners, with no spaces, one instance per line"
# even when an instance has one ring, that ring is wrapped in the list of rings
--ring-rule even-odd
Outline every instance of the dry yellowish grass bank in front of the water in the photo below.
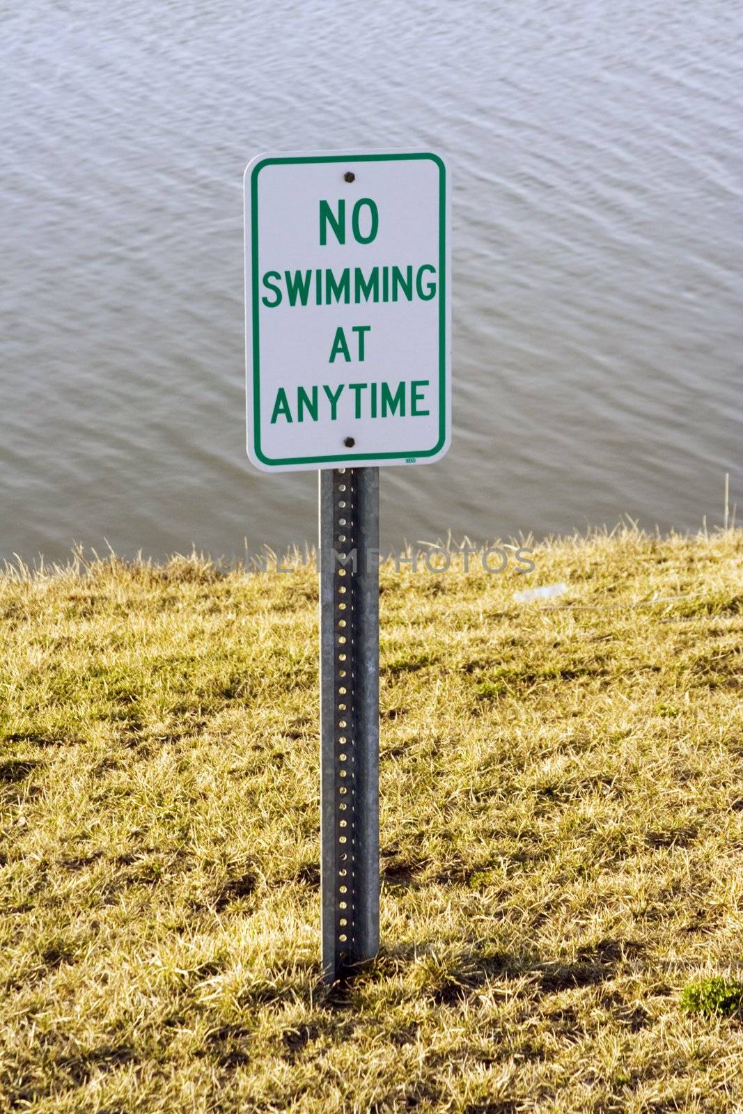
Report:
[[[2,1114],[743,1110],[712,1008],[743,968],[741,531],[534,559],[383,571],[383,945],[344,989],[312,569],[0,578]]]

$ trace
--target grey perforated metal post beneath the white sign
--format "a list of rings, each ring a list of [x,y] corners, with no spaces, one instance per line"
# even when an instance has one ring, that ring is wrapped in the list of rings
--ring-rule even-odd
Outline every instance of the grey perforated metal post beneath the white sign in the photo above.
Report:
[[[320,472],[322,966],[379,947],[379,469]]]

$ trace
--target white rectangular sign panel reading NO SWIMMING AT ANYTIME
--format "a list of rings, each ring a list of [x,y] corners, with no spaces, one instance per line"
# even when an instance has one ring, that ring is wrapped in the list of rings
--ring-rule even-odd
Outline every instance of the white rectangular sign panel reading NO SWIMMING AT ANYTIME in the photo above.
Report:
[[[245,170],[247,453],[264,471],[449,448],[450,183],[428,152]]]

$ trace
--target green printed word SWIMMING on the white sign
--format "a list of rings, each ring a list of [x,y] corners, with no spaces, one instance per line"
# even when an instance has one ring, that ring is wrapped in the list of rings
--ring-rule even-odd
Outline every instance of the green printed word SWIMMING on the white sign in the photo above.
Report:
[[[412,302],[419,297],[430,302],[436,297],[436,267],[423,263],[420,267],[315,267],[309,271],[266,271],[263,287],[268,291],[261,299],[268,310],[281,305],[343,305],[361,302]]]

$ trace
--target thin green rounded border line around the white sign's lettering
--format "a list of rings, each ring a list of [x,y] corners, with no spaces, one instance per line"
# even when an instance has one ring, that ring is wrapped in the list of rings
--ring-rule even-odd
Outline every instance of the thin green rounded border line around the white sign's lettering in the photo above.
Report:
[[[349,452],[331,457],[282,457],[274,460],[261,450],[261,371],[258,340],[258,174],[265,166],[285,166],[297,163],[392,163],[428,158],[439,167],[439,440],[432,449],[412,449],[405,452]],[[283,465],[346,463],[353,460],[393,460],[404,457],[433,457],[447,438],[447,168],[438,155],[430,152],[390,155],[306,155],[286,158],[262,158],[251,173],[251,248],[253,280],[253,448],[255,456],[268,467]]]

